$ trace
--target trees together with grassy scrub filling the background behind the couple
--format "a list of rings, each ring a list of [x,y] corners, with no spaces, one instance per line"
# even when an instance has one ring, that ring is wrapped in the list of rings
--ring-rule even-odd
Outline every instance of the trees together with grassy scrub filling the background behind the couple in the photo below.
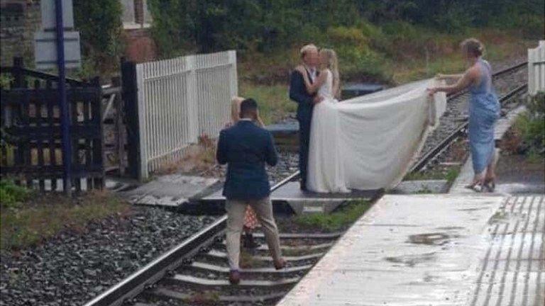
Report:
[[[545,25],[542,0],[150,0],[149,7],[163,57],[236,49],[241,77],[259,84],[285,83],[306,42],[337,50],[345,80],[404,81],[461,69],[461,60],[448,67],[439,58],[458,57],[468,35],[490,44],[495,57],[510,51],[500,46],[506,37],[535,40]],[[393,75],[413,67],[425,70]]]

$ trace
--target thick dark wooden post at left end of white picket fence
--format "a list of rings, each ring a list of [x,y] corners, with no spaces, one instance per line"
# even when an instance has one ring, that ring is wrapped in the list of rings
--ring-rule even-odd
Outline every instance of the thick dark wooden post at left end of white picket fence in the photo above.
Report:
[[[141,176],[140,128],[138,124],[138,87],[136,86],[136,63],[121,58],[121,96],[127,132],[127,172],[138,179]]]

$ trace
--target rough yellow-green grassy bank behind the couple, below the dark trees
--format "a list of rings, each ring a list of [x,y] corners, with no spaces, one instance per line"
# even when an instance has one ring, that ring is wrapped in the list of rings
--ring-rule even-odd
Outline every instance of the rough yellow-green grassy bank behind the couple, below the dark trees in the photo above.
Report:
[[[472,36],[484,42],[485,58],[491,62],[526,57],[527,48],[536,44],[535,40],[520,38],[517,31],[494,28],[446,34],[407,25],[393,26],[390,30],[373,26],[371,31],[363,29],[363,37],[358,35],[356,40],[338,39],[355,35],[355,28],[335,28],[333,32],[316,38],[316,43],[338,51],[343,83],[368,81],[396,85],[438,73],[463,72],[466,62],[461,57],[459,43]],[[259,52],[241,55],[240,96],[258,101],[265,124],[275,123],[297,108],[288,97],[287,82],[290,70],[299,61],[299,47],[277,50],[270,55]]]

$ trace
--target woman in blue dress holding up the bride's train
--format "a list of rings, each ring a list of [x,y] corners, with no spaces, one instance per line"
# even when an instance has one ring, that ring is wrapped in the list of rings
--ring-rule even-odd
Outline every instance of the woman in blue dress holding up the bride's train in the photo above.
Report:
[[[495,143],[494,125],[500,116],[500,102],[492,87],[492,69],[481,56],[484,46],[475,38],[461,43],[463,56],[469,64],[464,74],[441,75],[440,79],[455,79],[455,84],[429,89],[433,95],[437,91],[453,94],[469,89],[469,145],[473,171],[473,182],[467,186],[475,191],[493,191],[495,188]]]

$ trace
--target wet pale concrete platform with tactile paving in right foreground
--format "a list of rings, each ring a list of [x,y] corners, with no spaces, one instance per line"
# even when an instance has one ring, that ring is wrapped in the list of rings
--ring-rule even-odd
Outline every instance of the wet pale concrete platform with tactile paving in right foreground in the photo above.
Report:
[[[384,196],[277,305],[544,305],[538,196]]]

